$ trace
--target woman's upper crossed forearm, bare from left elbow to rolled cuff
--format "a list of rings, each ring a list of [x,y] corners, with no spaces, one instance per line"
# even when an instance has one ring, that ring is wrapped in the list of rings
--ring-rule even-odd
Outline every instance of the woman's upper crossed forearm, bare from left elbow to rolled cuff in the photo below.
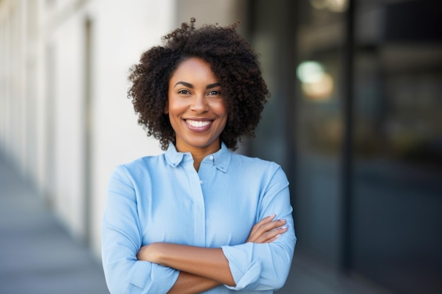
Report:
[[[234,286],[229,262],[221,248],[205,248],[173,243],[153,243],[141,247],[138,259],[172,267],[222,284]]]

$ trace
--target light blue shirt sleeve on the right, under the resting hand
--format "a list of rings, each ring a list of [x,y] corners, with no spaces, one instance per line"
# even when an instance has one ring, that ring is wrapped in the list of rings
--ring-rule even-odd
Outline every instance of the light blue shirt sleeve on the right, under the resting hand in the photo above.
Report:
[[[277,168],[261,196],[259,219],[276,214],[285,219],[288,231],[272,243],[222,246],[236,286],[233,290],[277,290],[284,286],[292,264],[296,236],[285,173]]]

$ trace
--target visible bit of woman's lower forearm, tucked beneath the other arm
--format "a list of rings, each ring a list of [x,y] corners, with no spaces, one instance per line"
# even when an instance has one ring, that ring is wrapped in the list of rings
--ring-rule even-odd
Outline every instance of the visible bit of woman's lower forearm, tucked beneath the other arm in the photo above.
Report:
[[[167,294],[198,294],[220,285],[221,283],[209,278],[181,271],[174,286]]]

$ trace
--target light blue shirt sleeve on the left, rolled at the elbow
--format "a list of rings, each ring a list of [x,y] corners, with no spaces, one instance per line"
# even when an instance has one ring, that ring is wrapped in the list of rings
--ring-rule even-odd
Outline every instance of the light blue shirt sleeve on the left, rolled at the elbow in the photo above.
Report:
[[[110,293],[167,293],[179,271],[138,261],[142,244],[136,192],[126,169],[119,166],[109,179],[102,222],[102,263]]]

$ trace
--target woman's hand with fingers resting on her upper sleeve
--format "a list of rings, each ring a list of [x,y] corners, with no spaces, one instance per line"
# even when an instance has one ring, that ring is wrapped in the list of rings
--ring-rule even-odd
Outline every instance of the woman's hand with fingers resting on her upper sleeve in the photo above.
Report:
[[[272,243],[280,237],[281,234],[287,232],[285,219],[275,219],[275,214],[267,216],[253,226],[246,242],[252,243]]]

